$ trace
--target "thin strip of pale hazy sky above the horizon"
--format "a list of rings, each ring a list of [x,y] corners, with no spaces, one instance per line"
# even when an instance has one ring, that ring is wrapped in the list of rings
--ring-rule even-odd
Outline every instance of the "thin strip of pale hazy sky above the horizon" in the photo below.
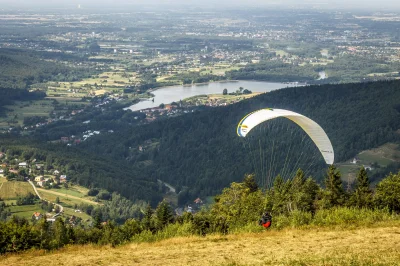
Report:
[[[81,8],[126,6],[303,7],[400,11],[399,0],[0,0],[1,8]]]

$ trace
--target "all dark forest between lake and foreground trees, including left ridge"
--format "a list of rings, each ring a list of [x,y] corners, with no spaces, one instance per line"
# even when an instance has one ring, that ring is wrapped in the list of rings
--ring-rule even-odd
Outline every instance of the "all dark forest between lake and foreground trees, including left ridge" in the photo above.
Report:
[[[288,165],[293,168],[290,172],[297,170],[299,166],[293,161],[302,154],[305,155],[303,158],[309,159],[319,155],[318,151],[309,152],[312,148],[315,150],[311,141],[307,147],[299,145],[302,135],[292,134],[289,124],[292,128],[296,126],[283,120],[286,124],[275,127],[271,131],[273,134],[267,131],[268,137],[266,131],[251,132],[256,144],[258,140],[273,140],[276,145],[245,147],[244,140],[236,134],[236,127],[243,116],[254,110],[280,108],[310,117],[331,139],[335,162],[344,162],[361,151],[399,141],[399,103],[400,81],[286,88],[230,106],[139,126],[132,121],[136,121],[135,116],[144,114],[123,112],[121,108],[119,111],[110,109],[104,113],[81,114],[74,120],[37,129],[35,137],[40,140],[22,141],[10,137],[0,140],[0,145],[4,151],[20,148],[19,155],[32,147],[43,161],[52,161],[72,182],[117,191],[133,200],[150,201],[153,206],[163,192],[156,184],[159,179],[176,187],[180,204],[185,204],[199,196],[204,198],[220,193],[223,187],[241,180],[244,174],[257,172],[254,154],[260,160],[261,156],[257,155],[260,150],[265,155],[276,156],[271,160],[264,155],[263,159],[268,159],[276,169],[284,168],[278,167],[284,165],[290,150],[292,161]],[[121,116],[115,116],[116,113]],[[132,119],[124,120],[125,116]],[[82,126],[85,120],[91,122]],[[45,140],[59,140],[61,136],[81,134],[88,129],[113,130],[114,133],[92,137],[73,147],[43,144]],[[33,154],[31,159],[35,157]],[[318,160],[309,171],[305,168],[310,163],[300,167],[307,175],[321,181],[326,164],[320,155],[315,158]],[[387,171],[382,173],[374,177],[374,181],[383,178]],[[277,172],[273,177],[276,175]]]

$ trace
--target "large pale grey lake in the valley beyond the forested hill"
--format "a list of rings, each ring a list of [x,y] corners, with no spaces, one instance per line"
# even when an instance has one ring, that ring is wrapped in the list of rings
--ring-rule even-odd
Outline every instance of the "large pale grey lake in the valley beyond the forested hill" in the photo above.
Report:
[[[126,109],[138,111],[146,108],[158,107],[160,104],[168,104],[171,102],[178,102],[180,100],[202,94],[222,94],[224,89],[228,93],[235,92],[239,87],[250,90],[252,92],[269,92],[286,87],[298,86],[297,83],[276,83],[276,82],[263,82],[263,81],[228,81],[228,82],[211,82],[205,84],[189,85],[189,86],[170,86],[161,87],[154,90],[152,93],[155,95],[154,102],[152,99],[141,101]]]

